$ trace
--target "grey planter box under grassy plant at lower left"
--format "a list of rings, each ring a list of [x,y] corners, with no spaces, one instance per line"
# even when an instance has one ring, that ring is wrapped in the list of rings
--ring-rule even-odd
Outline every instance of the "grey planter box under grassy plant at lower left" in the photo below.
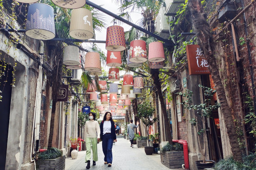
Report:
[[[53,160],[36,160],[36,170],[65,170],[65,158],[64,155]]]

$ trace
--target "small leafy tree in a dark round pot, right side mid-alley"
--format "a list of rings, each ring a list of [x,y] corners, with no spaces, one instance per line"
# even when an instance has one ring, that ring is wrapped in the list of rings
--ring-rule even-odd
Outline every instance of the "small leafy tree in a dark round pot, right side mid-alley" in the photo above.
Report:
[[[153,146],[149,146],[149,127],[157,121],[157,118],[153,118],[154,111],[155,109],[147,100],[143,101],[142,104],[138,104],[137,117],[142,121],[147,134],[148,146],[145,146],[145,153],[147,155],[152,155],[154,151]]]

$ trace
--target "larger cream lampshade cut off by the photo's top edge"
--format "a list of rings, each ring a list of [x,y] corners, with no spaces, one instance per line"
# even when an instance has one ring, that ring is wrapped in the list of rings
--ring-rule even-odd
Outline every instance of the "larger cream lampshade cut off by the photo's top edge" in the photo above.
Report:
[[[52,0],[59,7],[75,9],[85,5],[85,0]],[[82,14],[81,14],[82,15]]]

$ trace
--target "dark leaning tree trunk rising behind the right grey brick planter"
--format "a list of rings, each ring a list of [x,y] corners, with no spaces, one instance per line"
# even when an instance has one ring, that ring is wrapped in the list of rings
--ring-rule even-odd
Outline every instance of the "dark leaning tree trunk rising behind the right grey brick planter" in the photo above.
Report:
[[[160,81],[159,81],[159,70],[158,69],[151,69],[150,73],[152,74],[152,79],[153,79],[153,82],[156,86],[157,94],[158,94],[158,97],[159,97],[159,100],[160,100],[161,110],[162,110],[163,115],[164,115],[164,125],[165,125],[164,127],[165,127],[165,131],[166,131],[166,135],[167,135],[167,140],[169,141],[170,144],[173,144],[172,137],[171,137],[171,131],[170,131],[170,123],[169,123],[169,119],[167,117],[166,106],[164,104],[164,97],[163,97],[163,94],[162,94],[161,84],[160,84]]]

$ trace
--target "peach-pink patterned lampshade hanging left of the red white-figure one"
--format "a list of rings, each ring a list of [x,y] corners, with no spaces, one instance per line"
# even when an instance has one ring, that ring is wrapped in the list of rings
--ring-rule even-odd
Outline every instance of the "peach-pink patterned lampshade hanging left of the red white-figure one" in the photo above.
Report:
[[[100,54],[98,52],[87,52],[85,55],[85,70],[96,72],[101,70]]]

